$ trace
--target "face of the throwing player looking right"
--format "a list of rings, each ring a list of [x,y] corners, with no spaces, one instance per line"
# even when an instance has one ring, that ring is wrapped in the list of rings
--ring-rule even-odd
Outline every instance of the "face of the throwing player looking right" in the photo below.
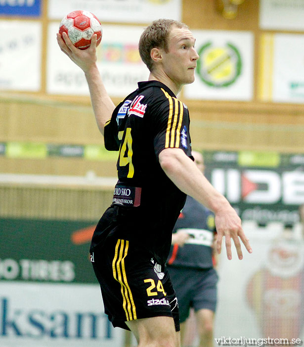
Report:
[[[187,28],[173,27],[168,38],[168,52],[163,53],[163,69],[177,85],[194,82],[196,60],[195,38]]]

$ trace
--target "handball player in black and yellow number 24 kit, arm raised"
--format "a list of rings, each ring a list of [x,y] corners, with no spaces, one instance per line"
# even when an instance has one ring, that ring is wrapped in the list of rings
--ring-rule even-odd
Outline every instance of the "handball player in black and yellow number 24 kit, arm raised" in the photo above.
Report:
[[[231,238],[239,259],[239,238],[251,252],[240,218],[191,157],[188,111],[176,95],[194,81],[199,58],[195,38],[185,24],[173,20],[148,26],[139,53],[149,79],[117,108],[96,65],[96,35],[85,51],[75,48],[65,33],[63,38],[57,34],[59,47],[85,72],[106,148],[119,149],[113,204],[90,247],[105,312],[114,326],[134,333],[138,347],[178,347],[177,299],[164,265],[185,194],[215,212],[218,252],[222,236],[229,259]]]

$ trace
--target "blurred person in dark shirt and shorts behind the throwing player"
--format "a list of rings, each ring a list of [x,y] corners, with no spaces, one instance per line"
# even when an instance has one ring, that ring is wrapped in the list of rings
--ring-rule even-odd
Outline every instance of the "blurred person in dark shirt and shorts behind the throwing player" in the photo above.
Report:
[[[204,173],[204,158],[192,151]],[[205,206],[187,196],[173,230],[168,270],[178,299],[181,342],[184,341],[190,307],[194,308],[199,347],[213,346],[214,312],[217,304],[217,272],[213,266],[215,220]]]

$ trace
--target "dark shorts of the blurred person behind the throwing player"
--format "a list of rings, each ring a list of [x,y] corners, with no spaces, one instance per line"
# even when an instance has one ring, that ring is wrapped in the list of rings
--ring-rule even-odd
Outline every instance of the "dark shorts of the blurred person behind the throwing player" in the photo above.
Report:
[[[218,276],[214,268],[170,266],[168,270],[179,303],[180,323],[188,318],[190,307],[193,307],[194,311],[207,308],[215,312]]]

